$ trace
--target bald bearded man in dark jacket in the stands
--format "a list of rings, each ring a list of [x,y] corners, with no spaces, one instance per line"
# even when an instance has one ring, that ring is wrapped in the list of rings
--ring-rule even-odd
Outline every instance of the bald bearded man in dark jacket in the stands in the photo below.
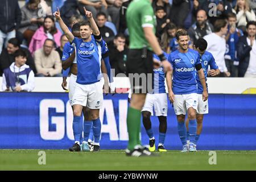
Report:
[[[188,30],[189,38],[192,42],[196,42],[199,38],[203,38],[205,35],[213,32],[213,26],[207,20],[207,13],[205,10],[197,11],[196,22]]]

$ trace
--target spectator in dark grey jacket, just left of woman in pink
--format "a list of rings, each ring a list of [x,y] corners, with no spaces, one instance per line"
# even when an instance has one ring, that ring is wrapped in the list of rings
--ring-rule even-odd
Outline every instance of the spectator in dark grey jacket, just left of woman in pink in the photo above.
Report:
[[[26,40],[26,44],[29,45],[35,31],[38,30],[44,22],[42,16],[39,16],[39,3],[40,0],[30,0],[21,9],[22,20],[17,32],[17,34],[19,34],[20,43],[22,43],[24,38]]]

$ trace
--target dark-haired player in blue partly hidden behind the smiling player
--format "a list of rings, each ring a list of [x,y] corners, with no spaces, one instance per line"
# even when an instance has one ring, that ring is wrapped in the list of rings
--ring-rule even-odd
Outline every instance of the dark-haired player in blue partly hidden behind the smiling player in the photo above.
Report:
[[[207,49],[207,41],[203,38],[198,39],[195,42],[194,48],[201,55],[201,64],[204,71],[205,81],[207,81],[207,73],[208,73],[209,66],[210,66],[210,70],[209,70],[210,76],[219,75],[220,70],[218,69],[218,65],[216,64],[216,61],[214,60],[212,53],[205,51]],[[208,100],[203,101],[202,99],[203,86],[201,85],[198,73],[196,74],[196,81],[197,81],[198,106],[197,106],[197,114],[196,114],[196,122],[197,122],[196,138],[193,142],[193,144],[195,144],[195,149],[196,149],[197,141],[199,140],[199,137],[202,131],[204,114],[208,114]],[[187,118],[187,121],[186,121],[187,143],[189,144],[188,122],[189,122],[189,119]]]

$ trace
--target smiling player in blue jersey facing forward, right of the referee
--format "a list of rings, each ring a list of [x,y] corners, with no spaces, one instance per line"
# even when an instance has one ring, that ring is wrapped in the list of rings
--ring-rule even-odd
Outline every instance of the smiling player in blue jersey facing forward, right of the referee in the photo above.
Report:
[[[188,48],[189,36],[186,30],[179,30],[176,33],[179,49],[170,53],[168,61],[172,64],[173,73],[168,76],[168,96],[174,104],[177,115],[177,130],[183,149],[181,152],[195,151],[196,137],[196,109],[198,105],[196,71],[203,86],[202,99],[208,99],[205,76],[200,62],[200,55],[197,51]],[[188,112],[188,128],[191,143],[187,144],[187,131],[185,127],[185,115]]]

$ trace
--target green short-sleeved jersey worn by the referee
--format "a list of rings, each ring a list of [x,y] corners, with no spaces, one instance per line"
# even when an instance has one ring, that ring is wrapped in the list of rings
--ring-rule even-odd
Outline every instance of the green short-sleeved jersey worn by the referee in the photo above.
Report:
[[[149,0],[134,0],[126,11],[126,22],[130,35],[130,49],[141,49],[148,44],[143,27],[152,27],[155,33],[156,18]]]

